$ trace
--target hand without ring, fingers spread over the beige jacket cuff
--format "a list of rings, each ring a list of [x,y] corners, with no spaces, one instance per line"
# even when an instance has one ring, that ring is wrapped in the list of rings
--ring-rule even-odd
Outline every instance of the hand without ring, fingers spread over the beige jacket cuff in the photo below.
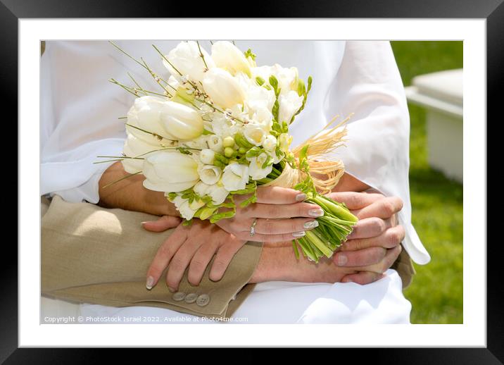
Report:
[[[151,289],[168,267],[166,283],[170,291],[176,291],[180,280],[189,266],[187,280],[191,285],[199,285],[206,267],[215,254],[210,280],[220,280],[234,254],[246,243],[246,240],[231,235],[208,221],[193,219],[191,225],[179,224],[180,219],[164,216],[158,221],[144,222],[144,228],[161,232],[177,226],[175,231],[161,245],[147,271],[146,287]]]

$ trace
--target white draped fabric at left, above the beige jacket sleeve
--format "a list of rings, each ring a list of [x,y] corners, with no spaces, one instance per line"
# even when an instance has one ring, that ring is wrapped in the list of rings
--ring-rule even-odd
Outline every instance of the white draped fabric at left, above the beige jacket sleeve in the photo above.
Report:
[[[107,42],[46,42],[41,58],[41,194],[68,202],[99,201],[98,181],[120,156],[131,100],[107,82],[123,66]],[[116,76],[117,77],[117,76]],[[122,113],[122,114],[121,114]]]

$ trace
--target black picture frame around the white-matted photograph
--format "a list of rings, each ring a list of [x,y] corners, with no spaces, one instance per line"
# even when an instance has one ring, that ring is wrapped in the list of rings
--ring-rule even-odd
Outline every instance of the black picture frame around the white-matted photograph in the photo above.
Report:
[[[484,18],[487,42],[487,111],[498,108],[499,87],[504,85],[504,0],[353,0],[353,1],[256,1],[245,13],[248,18]],[[0,80],[2,101],[17,105],[18,95],[18,19],[20,18],[207,18],[207,6],[194,6],[187,11],[183,1],[149,1],[144,5],[131,0],[1,0],[0,32],[2,62]],[[219,3],[222,9],[239,9]],[[244,14],[244,13],[241,13]],[[236,17],[228,14],[229,17]],[[502,101],[500,101],[502,104]],[[11,108],[13,109],[13,108]],[[11,118],[17,118],[17,109]],[[486,120],[478,121],[486,123]],[[23,136],[18,136],[22,138]],[[488,165],[487,165],[488,166]],[[485,178],[481,177],[481,178]],[[18,194],[19,194],[18,190]],[[13,194],[6,194],[13,197]],[[15,205],[17,206],[17,204]],[[486,212],[482,212],[486,214]],[[19,217],[22,219],[23,217]],[[4,230],[4,233],[9,228]],[[4,235],[4,237],[8,237]],[[483,247],[482,242],[471,242]],[[10,240],[4,240],[1,267],[0,362],[6,364],[63,364],[99,361],[102,352],[90,349],[27,349],[18,348],[18,252]],[[453,349],[373,349],[374,363],[387,364],[502,364],[504,361],[503,285],[500,280],[498,243],[487,247],[487,347]],[[34,247],[36,247],[34,242]],[[341,349],[332,351],[340,352]],[[387,351],[384,353],[384,351]],[[127,354],[120,352],[121,357]],[[341,355],[338,357],[341,359]],[[360,357],[362,359],[362,357]],[[363,360],[363,359],[362,359]],[[120,358],[115,358],[120,361]],[[144,360],[145,361],[145,360]],[[152,359],[151,361],[157,361]],[[359,361],[360,362],[360,361]]]

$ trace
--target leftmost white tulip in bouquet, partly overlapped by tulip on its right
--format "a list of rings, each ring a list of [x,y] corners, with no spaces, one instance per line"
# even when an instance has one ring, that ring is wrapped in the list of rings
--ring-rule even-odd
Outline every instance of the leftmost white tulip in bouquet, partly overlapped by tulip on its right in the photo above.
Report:
[[[151,133],[156,133],[169,140],[176,140],[177,138],[166,130],[165,125],[161,121],[163,112],[165,111],[165,103],[167,102],[168,99],[151,96],[135,99],[130,111],[127,112],[127,124],[129,124],[126,126],[127,132],[150,144],[158,144],[160,142]],[[169,141],[163,140],[163,142]]]

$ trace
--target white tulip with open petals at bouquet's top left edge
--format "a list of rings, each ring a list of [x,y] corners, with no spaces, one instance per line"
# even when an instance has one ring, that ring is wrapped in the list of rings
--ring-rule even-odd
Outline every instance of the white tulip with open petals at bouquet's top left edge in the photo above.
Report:
[[[201,53],[205,57],[208,68],[215,67],[215,63],[210,55],[201,47]],[[180,42],[165,56],[170,63],[163,58],[163,64],[170,73],[178,80],[181,76],[189,76],[189,79],[201,81],[205,75],[205,63],[200,56],[198,44],[194,41]],[[175,70],[175,68],[177,70]],[[177,72],[178,71],[178,72]],[[180,75],[182,73],[182,75]]]

